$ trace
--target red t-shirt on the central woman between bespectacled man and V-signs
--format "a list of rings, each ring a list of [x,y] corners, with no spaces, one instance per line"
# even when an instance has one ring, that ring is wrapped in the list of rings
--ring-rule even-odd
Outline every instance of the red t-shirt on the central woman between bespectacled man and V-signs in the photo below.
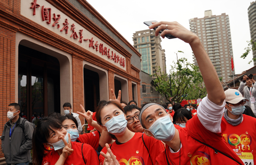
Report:
[[[143,135],[143,139],[150,152],[153,165],[155,165],[156,157],[161,151],[164,150],[163,143],[153,137],[148,137],[145,134]],[[104,147],[101,151],[106,154],[106,147]],[[116,156],[116,159],[119,161],[120,165],[152,165],[149,152],[143,144],[142,133],[140,132],[135,133],[131,140],[126,143],[118,145],[115,141],[111,146],[111,151]],[[100,165],[102,165],[105,157],[100,155],[99,159]]]

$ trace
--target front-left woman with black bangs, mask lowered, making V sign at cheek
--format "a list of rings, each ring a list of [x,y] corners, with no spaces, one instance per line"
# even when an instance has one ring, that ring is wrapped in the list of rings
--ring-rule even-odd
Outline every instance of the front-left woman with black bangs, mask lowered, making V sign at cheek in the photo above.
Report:
[[[32,144],[34,165],[99,163],[96,151],[88,144],[71,142],[70,134],[57,119],[41,119],[33,132]],[[53,147],[54,150],[44,154],[47,151],[44,146]]]

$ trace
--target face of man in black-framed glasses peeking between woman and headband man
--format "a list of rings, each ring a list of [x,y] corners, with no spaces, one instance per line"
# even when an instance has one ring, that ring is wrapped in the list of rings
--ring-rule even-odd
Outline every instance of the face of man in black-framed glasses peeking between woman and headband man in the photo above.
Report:
[[[139,121],[140,108],[137,105],[127,105],[124,107],[124,113],[127,118],[127,128],[132,132],[143,133],[143,127]]]

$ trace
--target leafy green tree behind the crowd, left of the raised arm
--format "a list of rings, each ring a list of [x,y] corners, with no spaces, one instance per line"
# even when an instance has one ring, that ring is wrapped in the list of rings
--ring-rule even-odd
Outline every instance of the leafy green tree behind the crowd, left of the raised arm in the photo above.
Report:
[[[178,51],[183,53],[182,51]],[[206,96],[206,88],[203,86],[203,77],[199,67],[188,62],[186,58],[180,58],[171,66],[168,74],[162,73],[159,68],[154,83],[156,90],[164,95],[167,100],[172,97],[172,102],[180,103],[184,99],[198,99]],[[169,100],[170,102],[170,100]]]

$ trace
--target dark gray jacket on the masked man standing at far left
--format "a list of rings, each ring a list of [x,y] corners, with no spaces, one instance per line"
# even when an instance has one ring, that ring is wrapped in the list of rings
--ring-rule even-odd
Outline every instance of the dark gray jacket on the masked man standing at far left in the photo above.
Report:
[[[10,138],[10,123],[4,124],[4,130],[1,137],[2,151],[5,156],[5,161],[8,164],[16,164],[28,162],[31,160],[30,150],[32,148],[32,135],[34,131],[33,125],[26,121],[24,123],[24,132],[22,131],[23,118],[19,117],[16,125],[13,128]]]

